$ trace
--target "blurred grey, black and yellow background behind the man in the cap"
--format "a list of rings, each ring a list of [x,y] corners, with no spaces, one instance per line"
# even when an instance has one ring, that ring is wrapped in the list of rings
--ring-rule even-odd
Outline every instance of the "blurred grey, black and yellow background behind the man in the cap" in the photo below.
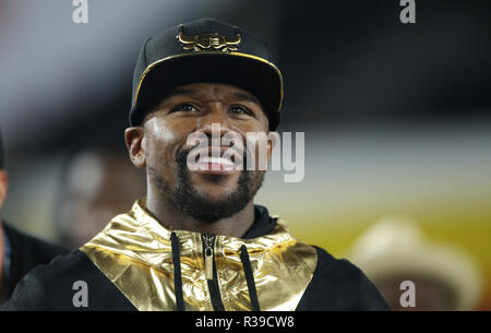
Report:
[[[256,203],[387,301],[411,280],[429,309],[491,310],[489,1],[416,1],[415,24],[398,0],[88,0],[87,24],[74,10],[0,0],[2,218],[79,246],[128,211],[145,193],[123,141],[142,43],[209,16],[270,45],[279,131],[306,133],[303,181],[270,171]]]

